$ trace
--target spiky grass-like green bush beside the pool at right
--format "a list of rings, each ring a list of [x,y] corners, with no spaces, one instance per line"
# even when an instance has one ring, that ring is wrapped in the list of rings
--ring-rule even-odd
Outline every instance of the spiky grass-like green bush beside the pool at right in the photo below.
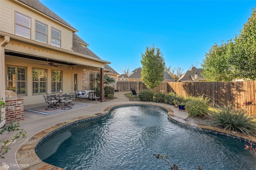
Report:
[[[214,109],[210,116],[209,125],[256,136],[256,115],[248,115],[246,110],[236,108],[231,103]]]

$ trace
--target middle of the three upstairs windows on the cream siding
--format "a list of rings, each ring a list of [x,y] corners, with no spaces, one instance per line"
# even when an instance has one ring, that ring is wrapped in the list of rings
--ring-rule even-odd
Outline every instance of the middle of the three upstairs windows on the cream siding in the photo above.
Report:
[[[36,21],[36,41],[47,43],[47,25]]]

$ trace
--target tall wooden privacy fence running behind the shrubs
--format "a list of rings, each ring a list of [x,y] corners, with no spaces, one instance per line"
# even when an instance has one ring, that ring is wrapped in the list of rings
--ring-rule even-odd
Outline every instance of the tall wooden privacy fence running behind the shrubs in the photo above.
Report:
[[[134,89],[140,92],[148,89],[143,82],[117,82],[120,91],[130,92]],[[227,104],[232,102],[236,107],[246,109],[250,115],[256,114],[256,102],[254,105],[242,106],[244,102],[256,100],[256,81],[241,82],[163,82],[153,89],[154,92],[175,92],[181,96],[201,96],[210,98],[214,104]]]

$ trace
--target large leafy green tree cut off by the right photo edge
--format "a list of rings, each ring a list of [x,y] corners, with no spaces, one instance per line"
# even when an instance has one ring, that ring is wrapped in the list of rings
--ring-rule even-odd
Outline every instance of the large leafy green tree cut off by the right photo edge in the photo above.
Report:
[[[256,80],[256,8],[240,32],[234,39],[232,63],[238,77]]]

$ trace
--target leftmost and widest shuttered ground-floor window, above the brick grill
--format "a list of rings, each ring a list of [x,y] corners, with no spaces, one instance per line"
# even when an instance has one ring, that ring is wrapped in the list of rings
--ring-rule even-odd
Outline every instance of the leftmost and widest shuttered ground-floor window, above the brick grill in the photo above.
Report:
[[[18,96],[26,95],[27,69],[20,66],[7,66],[7,90],[16,92]]]

